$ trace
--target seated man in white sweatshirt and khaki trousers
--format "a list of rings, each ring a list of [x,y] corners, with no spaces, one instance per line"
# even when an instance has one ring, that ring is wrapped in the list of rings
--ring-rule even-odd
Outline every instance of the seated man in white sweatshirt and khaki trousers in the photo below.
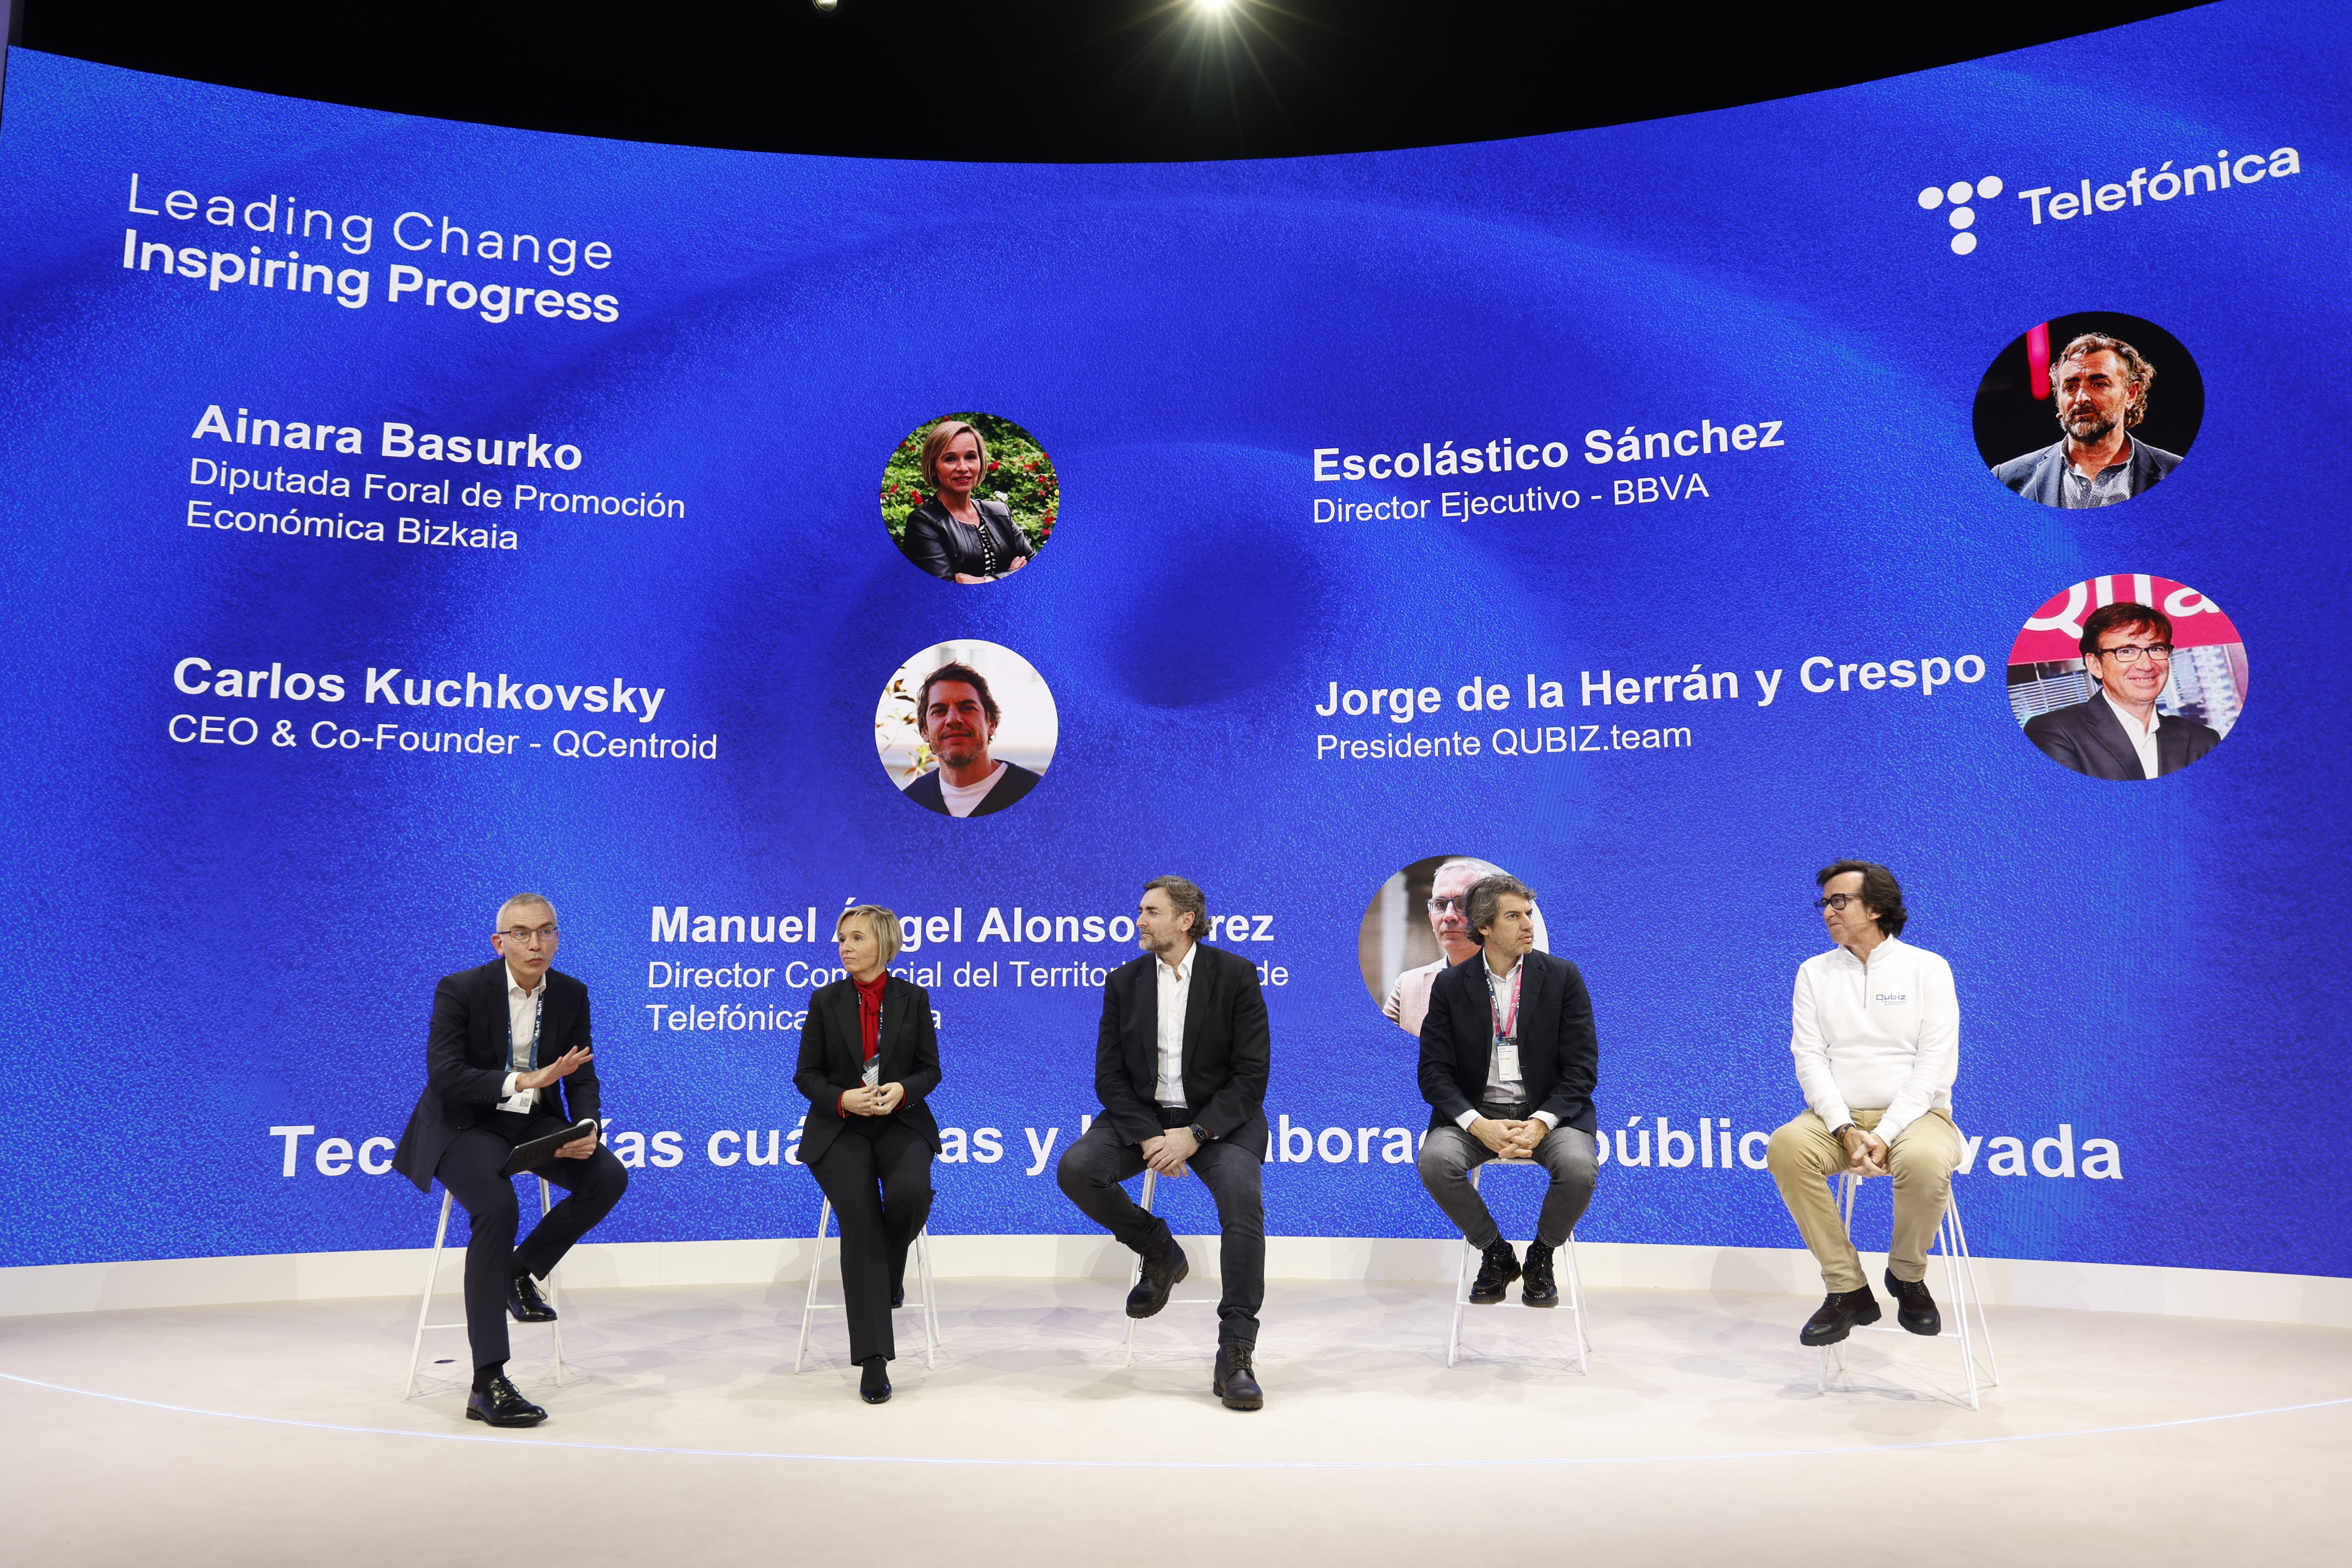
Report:
[[[1809,1110],[1773,1133],[1766,1150],[1780,1201],[1830,1288],[1797,1340],[1835,1345],[1879,1321],[1879,1300],[1830,1190],[1830,1178],[1846,1173],[1893,1178],[1886,1288],[1896,1321],[1912,1333],[1940,1333],[1926,1248],[1962,1157],[1952,1126],[1959,1070],[1952,966],[1898,940],[1907,919],[1903,886],[1884,865],[1839,860],[1813,882],[1823,893],[1813,907],[1837,945],[1797,966],[1790,1051]]]

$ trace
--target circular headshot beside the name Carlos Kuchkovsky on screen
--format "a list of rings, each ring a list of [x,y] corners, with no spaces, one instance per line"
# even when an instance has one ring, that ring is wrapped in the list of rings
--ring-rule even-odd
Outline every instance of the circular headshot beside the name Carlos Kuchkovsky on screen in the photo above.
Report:
[[[1061,717],[1037,668],[995,642],[941,642],[898,665],[875,705],[875,750],[910,802],[941,816],[1004,811],[1054,764]]]

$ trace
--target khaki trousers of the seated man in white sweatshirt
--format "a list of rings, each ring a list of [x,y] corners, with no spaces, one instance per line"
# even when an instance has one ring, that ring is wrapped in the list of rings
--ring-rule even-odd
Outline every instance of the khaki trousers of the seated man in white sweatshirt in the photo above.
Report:
[[[1872,1131],[1884,1114],[1853,1107],[1853,1124]],[[1900,1281],[1926,1279],[1926,1248],[1933,1246],[1943,1208],[1952,1199],[1952,1168],[1959,1166],[1959,1128],[1952,1126],[1950,1112],[1940,1110],[1905,1126],[1886,1147],[1886,1171],[1896,1182],[1896,1234],[1886,1248],[1886,1269]],[[1830,1291],[1867,1286],[1863,1260],[1837,1213],[1837,1190],[1830,1185],[1830,1178],[1846,1168],[1844,1140],[1832,1138],[1820,1117],[1802,1112],[1771,1135],[1764,1164],[1804,1244],[1820,1260],[1820,1281]]]

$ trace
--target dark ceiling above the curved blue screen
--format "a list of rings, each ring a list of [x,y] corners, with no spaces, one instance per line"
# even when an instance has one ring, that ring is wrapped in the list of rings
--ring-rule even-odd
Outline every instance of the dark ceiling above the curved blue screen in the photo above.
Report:
[[[1343,153],[1618,125],[1924,71],[2180,5],[24,0],[56,54],[588,136],[957,160]]]

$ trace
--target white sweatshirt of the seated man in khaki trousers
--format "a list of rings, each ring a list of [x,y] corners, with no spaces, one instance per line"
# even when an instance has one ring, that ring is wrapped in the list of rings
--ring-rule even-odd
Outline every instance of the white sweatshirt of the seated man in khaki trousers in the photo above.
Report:
[[[1952,1110],[1959,1074],[1959,997],[1952,966],[1926,947],[1886,938],[1863,964],[1844,947],[1797,966],[1790,1020],[1797,1084],[1813,1114],[1837,1131],[1853,1107],[1884,1107],[1879,1138],[1929,1110]]]

